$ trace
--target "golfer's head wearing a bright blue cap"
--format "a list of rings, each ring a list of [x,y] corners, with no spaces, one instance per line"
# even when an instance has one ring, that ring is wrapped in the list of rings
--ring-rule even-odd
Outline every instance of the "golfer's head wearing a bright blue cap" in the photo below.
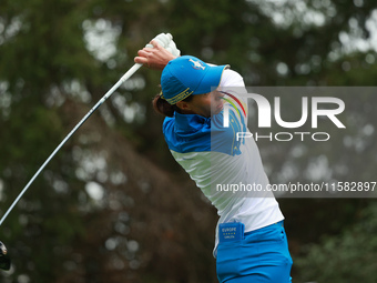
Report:
[[[162,98],[183,113],[210,117],[222,109],[216,91],[227,65],[210,65],[202,60],[183,55],[167,63],[161,75]]]

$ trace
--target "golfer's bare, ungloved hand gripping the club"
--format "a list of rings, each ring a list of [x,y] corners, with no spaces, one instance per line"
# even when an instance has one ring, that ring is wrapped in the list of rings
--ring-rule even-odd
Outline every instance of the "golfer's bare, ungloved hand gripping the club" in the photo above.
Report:
[[[163,70],[169,61],[177,58],[164,49],[157,40],[152,40],[151,47],[145,47],[137,51],[134,58],[135,63],[141,63],[153,70]]]

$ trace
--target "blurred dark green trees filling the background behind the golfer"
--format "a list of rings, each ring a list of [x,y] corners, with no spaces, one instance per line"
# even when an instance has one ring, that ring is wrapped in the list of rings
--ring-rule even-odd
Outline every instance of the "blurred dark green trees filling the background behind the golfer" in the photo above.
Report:
[[[376,84],[371,0],[2,0],[1,215],[160,32],[247,85]],[[13,260],[0,282],[217,282],[216,212],[164,143],[159,79],[137,71],[32,184],[0,229]],[[377,95],[358,94],[326,146],[259,143],[272,182],[377,181]],[[375,199],[279,203],[294,282],[377,281]]]

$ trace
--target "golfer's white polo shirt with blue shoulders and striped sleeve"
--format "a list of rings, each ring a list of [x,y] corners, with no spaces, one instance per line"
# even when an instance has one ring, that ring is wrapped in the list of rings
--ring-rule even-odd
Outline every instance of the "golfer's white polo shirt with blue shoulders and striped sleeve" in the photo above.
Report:
[[[163,123],[174,159],[217,209],[215,257],[220,223],[242,222],[248,232],[284,219],[273,193],[266,190],[268,178],[254,139],[237,139],[237,132],[249,133],[247,105],[236,93],[246,91],[242,77],[224,70],[220,90],[230,90],[224,97],[230,127],[223,127],[224,110],[211,118],[175,112]],[[253,186],[263,191],[249,190]]]

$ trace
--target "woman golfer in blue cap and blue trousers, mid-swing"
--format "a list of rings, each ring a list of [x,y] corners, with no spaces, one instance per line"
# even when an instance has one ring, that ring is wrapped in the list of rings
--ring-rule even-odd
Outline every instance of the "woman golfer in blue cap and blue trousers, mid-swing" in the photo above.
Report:
[[[154,109],[177,163],[217,209],[214,256],[220,282],[288,283],[292,259],[284,216],[247,130],[243,78],[228,65],[175,58],[157,42],[135,62],[160,69]],[[240,134],[243,133],[243,134]]]

